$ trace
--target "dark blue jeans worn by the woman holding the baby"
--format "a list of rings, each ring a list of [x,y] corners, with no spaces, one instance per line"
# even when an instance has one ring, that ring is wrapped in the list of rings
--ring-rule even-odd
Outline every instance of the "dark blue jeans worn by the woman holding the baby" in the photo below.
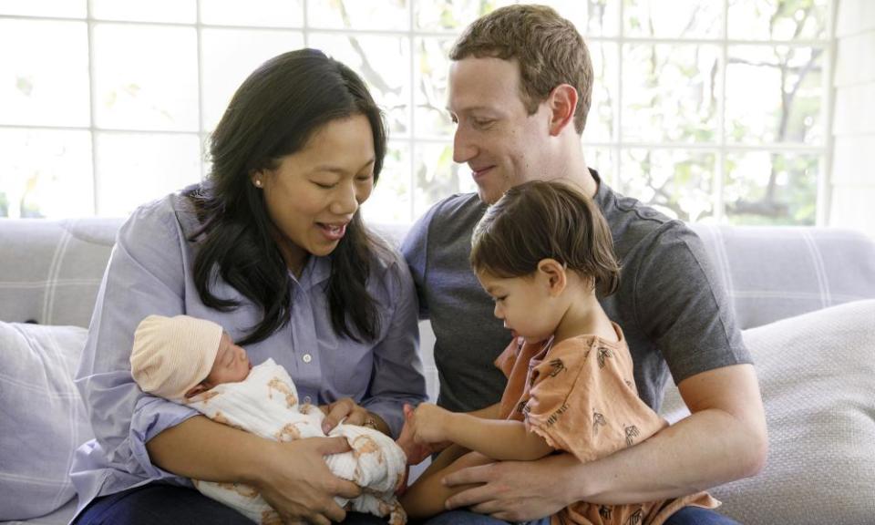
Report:
[[[252,525],[241,513],[195,489],[153,483],[95,499],[76,525]],[[347,512],[344,525],[385,525],[369,514]]]

